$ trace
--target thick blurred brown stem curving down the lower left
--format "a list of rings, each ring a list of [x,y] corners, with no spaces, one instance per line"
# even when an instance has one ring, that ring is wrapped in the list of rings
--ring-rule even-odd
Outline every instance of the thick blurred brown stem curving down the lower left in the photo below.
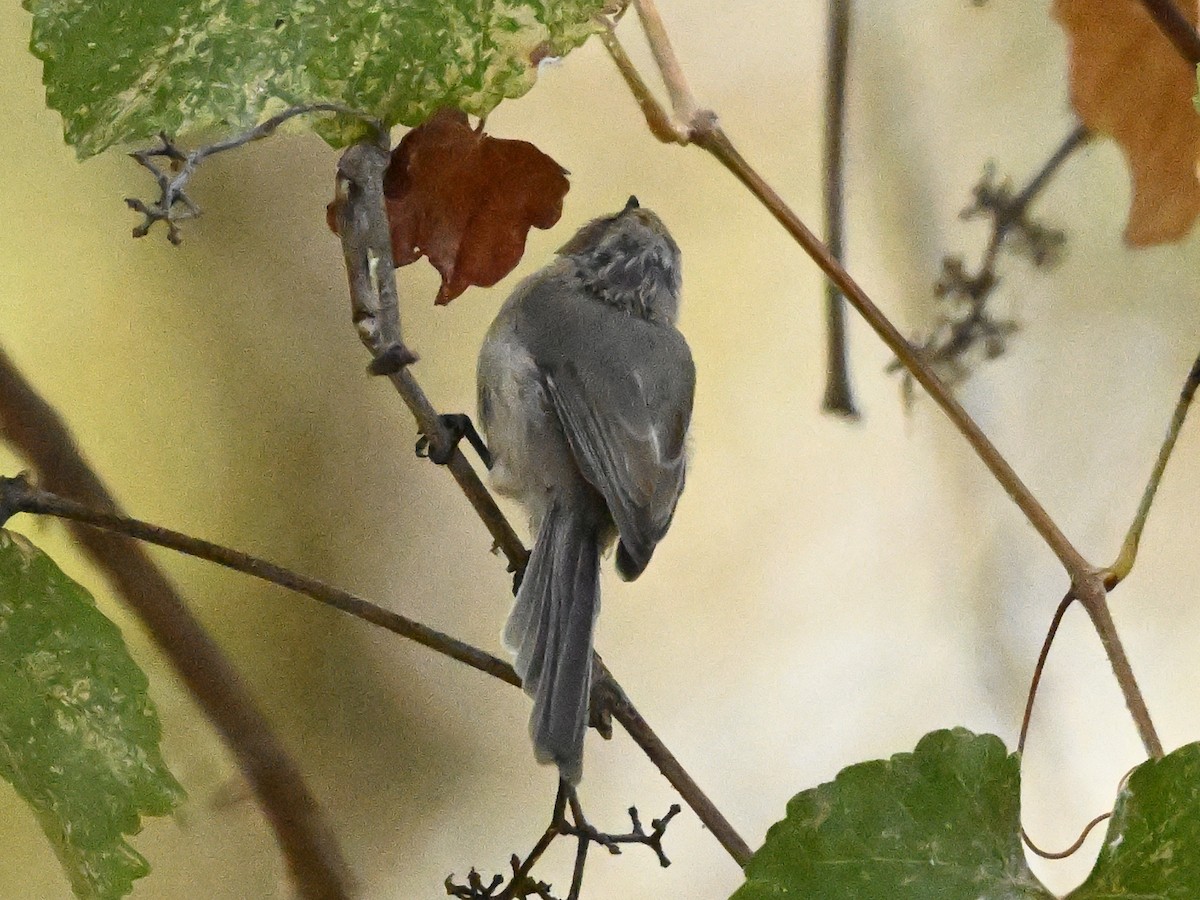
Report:
[[[0,434],[29,460],[43,484],[102,510],[100,516],[120,517],[116,500],[58,413],[2,350]],[[298,893],[313,900],[350,896],[346,860],[300,769],[175,586],[134,541],[74,523],[71,534],[138,614],[229,746],[275,829]]]

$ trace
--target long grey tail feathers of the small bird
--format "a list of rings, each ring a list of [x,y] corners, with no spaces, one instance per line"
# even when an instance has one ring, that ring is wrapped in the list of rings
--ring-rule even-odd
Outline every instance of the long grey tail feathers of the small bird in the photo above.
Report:
[[[504,644],[533,697],[529,734],[538,762],[578,784],[592,690],[592,635],[600,611],[600,541],[594,526],[553,504],[541,522]]]

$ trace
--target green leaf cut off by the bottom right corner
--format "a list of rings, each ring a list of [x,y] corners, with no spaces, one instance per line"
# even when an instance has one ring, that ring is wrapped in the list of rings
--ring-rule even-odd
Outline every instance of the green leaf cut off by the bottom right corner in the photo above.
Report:
[[[1070,900],[1200,894],[1200,744],[1144,762],[1117,797],[1091,876]]]

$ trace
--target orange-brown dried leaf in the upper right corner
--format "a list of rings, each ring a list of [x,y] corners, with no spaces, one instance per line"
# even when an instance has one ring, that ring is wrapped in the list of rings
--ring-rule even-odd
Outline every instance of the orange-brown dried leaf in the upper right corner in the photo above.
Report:
[[[1195,0],[1178,4],[1195,24]],[[1070,98],[1088,128],[1112,136],[1133,178],[1126,241],[1182,238],[1200,215],[1195,70],[1138,0],[1055,0],[1070,41]]]

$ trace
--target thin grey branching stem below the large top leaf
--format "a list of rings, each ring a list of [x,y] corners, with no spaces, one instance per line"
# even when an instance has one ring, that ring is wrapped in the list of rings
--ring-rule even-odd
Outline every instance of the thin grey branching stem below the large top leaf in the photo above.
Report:
[[[142,224],[133,229],[133,236],[145,238],[146,234],[150,233],[150,228],[154,227],[155,222],[166,222],[167,240],[178,245],[184,239],[182,233],[179,230],[179,223],[188,218],[196,218],[200,215],[200,208],[196,205],[191,197],[188,197],[186,190],[187,184],[192,180],[192,175],[196,174],[196,167],[209,156],[222,154],[226,150],[234,150],[239,146],[245,146],[253,140],[262,140],[265,137],[270,137],[275,133],[276,128],[283,125],[283,122],[288,119],[294,119],[298,115],[307,115],[310,113],[336,113],[338,115],[348,115],[365,122],[376,134],[386,133],[383,124],[377,119],[337,103],[308,103],[306,106],[290,107],[289,109],[284,109],[282,113],[272,115],[270,119],[259,122],[253,128],[244,131],[241,134],[235,134],[230,138],[226,138],[224,140],[218,140],[214,144],[197,148],[191,152],[184,152],[180,150],[166,132],[161,132],[158,134],[160,143],[157,146],[146,148],[144,150],[134,150],[130,154],[130,156],[150,170],[155,181],[158,182],[160,191],[158,199],[149,204],[137,199],[136,197],[125,198],[125,204],[136,212],[140,212],[143,216]],[[167,160],[169,163],[169,170],[164,172],[163,168],[155,162],[156,160]]]

